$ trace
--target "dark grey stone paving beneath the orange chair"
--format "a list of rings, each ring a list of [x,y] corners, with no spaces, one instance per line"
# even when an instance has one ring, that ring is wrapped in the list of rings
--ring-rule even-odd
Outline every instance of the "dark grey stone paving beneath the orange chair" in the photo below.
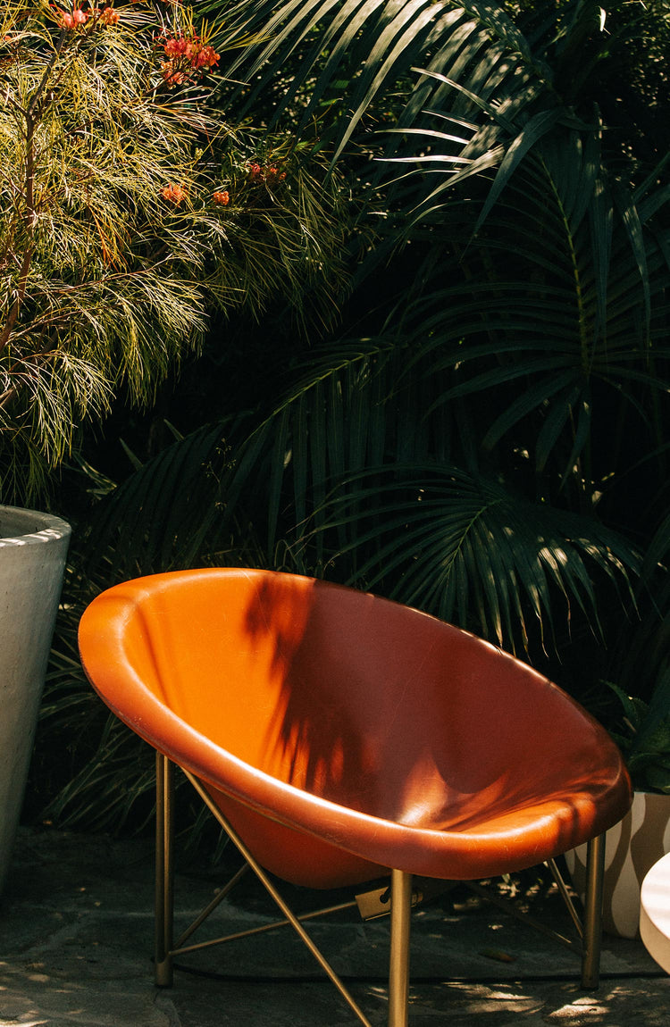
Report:
[[[290,928],[183,956],[180,966],[190,968],[177,971],[175,987],[154,988],[152,875],[145,839],[22,828],[0,902],[0,1027],[358,1023]],[[180,921],[220,883],[208,868],[182,867]],[[246,879],[207,929],[268,922],[271,907],[259,887]],[[307,898],[292,895],[298,906]],[[553,889],[531,889],[516,902],[569,928]],[[363,922],[353,910],[309,930],[338,973],[353,979],[351,992],[373,1027],[383,1027],[387,922]],[[410,1027],[667,1027],[670,979],[640,942],[604,941],[601,986],[585,993],[572,952],[459,887],[414,912]]]

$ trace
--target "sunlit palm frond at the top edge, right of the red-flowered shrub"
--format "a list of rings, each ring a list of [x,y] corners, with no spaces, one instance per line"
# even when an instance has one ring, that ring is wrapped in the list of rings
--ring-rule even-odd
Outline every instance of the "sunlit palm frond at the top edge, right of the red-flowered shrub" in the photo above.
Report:
[[[288,77],[277,116],[295,105],[306,83],[309,98],[301,124],[319,118],[325,100],[341,97],[347,81],[346,110],[336,106],[336,122],[322,125],[335,155],[342,152],[357,126],[385,91],[403,81],[413,66],[449,76],[468,69],[461,83],[466,98],[472,80],[472,96],[491,100],[514,86],[521,92],[519,65],[527,74],[543,73],[542,63],[530,53],[522,33],[496,4],[468,2],[454,5],[446,0],[312,0],[306,4],[289,0],[281,5],[250,2],[238,5],[253,11],[254,26],[263,24],[269,37],[265,45],[251,46],[226,69],[230,78],[245,74],[254,88],[248,106],[271,88],[285,73],[287,62],[298,58]],[[490,43],[496,45],[491,48]],[[305,48],[305,44],[308,44]],[[479,60],[475,61],[475,56]],[[426,58],[429,61],[426,62]],[[400,124],[410,125],[424,104],[422,79],[410,91]],[[429,90],[430,91],[430,90]],[[438,93],[439,97],[439,93]]]

